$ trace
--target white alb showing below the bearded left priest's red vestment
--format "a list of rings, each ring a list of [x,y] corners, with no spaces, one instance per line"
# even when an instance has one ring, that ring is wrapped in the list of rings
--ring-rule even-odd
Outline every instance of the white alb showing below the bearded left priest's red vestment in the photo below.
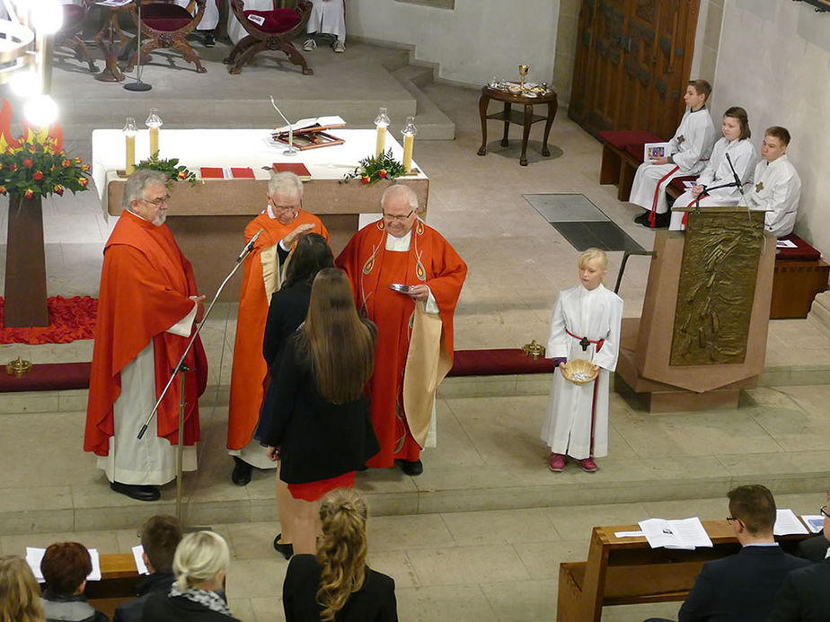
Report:
[[[190,337],[197,305],[166,332]],[[166,379],[165,379],[166,381]],[[192,374],[185,381],[195,382]],[[98,457],[110,482],[131,485],[161,486],[176,477],[176,446],[156,434],[155,417],[144,438],[138,432],[155,406],[155,349],[153,341],[121,370],[121,392],[112,407],[114,435],[110,436],[110,453]],[[185,446],[182,470],[196,470],[196,447]]]

